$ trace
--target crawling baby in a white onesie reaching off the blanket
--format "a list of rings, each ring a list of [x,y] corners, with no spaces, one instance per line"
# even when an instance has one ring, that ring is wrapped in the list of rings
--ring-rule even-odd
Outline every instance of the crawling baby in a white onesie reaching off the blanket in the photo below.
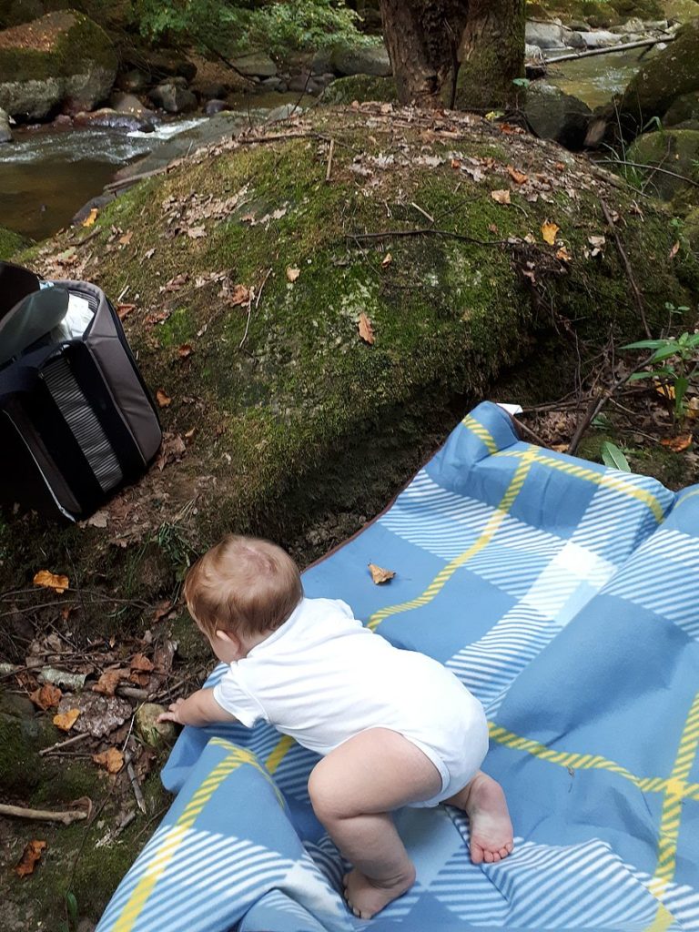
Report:
[[[321,754],[308,793],[353,865],[345,896],[356,916],[370,919],[415,881],[391,818],[401,806],[466,812],[475,864],[513,850],[502,788],[479,770],[483,707],[443,665],[393,647],[344,602],[305,598],[294,561],[268,541],[226,537],[189,571],[185,599],[228,669],[160,720],[267,721]]]

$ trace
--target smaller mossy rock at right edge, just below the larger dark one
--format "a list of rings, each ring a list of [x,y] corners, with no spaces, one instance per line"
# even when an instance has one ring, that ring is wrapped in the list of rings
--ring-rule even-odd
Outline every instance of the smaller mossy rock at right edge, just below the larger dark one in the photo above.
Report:
[[[630,162],[669,168],[670,171],[684,175],[695,183],[699,182],[699,131],[676,129],[643,133],[628,148],[626,158]],[[690,188],[693,192],[697,191],[690,182],[675,175],[663,174],[660,171],[638,173],[644,181],[651,179],[646,190],[650,188],[665,200],[671,200]]]

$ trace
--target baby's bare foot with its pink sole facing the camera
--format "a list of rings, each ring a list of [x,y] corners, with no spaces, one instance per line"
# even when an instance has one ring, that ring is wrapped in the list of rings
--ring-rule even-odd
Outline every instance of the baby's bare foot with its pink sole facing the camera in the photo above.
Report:
[[[445,800],[469,816],[473,864],[492,864],[507,857],[513,849],[513,829],[502,787],[492,776],[479,770],[471,783]]]

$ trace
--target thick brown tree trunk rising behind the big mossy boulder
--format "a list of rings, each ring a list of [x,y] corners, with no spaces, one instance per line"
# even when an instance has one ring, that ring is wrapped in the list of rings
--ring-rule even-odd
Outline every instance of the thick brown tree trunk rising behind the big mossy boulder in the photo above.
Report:
[[[381,16],[401,103],[491,109],[514,97],[525,0],[381,0]]]

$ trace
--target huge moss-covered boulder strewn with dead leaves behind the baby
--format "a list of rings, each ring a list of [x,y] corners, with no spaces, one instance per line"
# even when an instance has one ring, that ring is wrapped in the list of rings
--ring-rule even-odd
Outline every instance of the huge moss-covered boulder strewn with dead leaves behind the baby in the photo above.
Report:
[[[590,254],[605,233],[600,197],[624,217],[651,325],[666,301],[692,300],[689,257],[667,258],[669,215],[649,202],[639,217],[633,191],[555,144],[385,104],[287,126],[144,180],[83,246],[72,231],[21,256],[134,306],[125,326],[166,441],[104,509],[106,527],[9,516],[0,585],[31,585],[41,566],[153,597],[138,582],[148,545],[174,577],[225,531],[291,543],[319,514],[376,513],[431,438],[536,349],[552,308],[583,339],[637,336],[611,240]],[[492,196],[503,189],[509,206]],[[560,245],[542,240],[546,220]],[[91,611],[75,630],[123,624]]]

